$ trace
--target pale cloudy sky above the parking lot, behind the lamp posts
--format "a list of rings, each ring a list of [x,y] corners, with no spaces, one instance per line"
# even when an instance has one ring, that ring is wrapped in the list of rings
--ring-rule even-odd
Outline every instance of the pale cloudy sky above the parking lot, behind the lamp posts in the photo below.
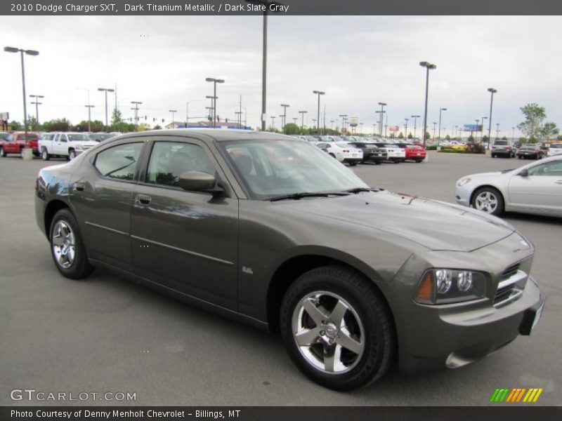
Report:
[[[511,138],[523,121],[520,107],[531,102],[562,126],[561,24],[560,16],[270,16],[267,124],[275,116],[278,128],[280,105],[288,104],[287,122],[297,117],[300,125],[302,110],[312,126],[317,90],[325,92],[320,108],[327,127],[341,126],[339,115],[347,114],[372,133],[378,102],[386,102],[388,126],[400,131],[408,118],[413,132],[411,116],[421,116],[419,137],[426,88],[419,62],[428,61],[437,66],[429,74],[430,132],[440,108],[447,108],[442,135],[488,116],[490,87],[497,89],[492,135],[499,123],[499,135]],[[139,115],[148,123],[171,122],[171,109],[176,121],[187,112],[196,121],[207,115],[205,96],[213,95],[205,78],[214,77],[225,80],[217,86],[218,116],[236,119],[242,95],[247,123],[260,124],[261,16],[0,16],[0,28],[4,46],[39,51],[25,56],[27,113],[35,115],[29,95],[45,97],[39,121],[87,120],[88,101],[91,118],[104,121],[98,88],[116,84],[125,118],[133,115],[131,101],[141,101]],[[0,51],[0,80],[0,112],[21,121],[19,55]]]

